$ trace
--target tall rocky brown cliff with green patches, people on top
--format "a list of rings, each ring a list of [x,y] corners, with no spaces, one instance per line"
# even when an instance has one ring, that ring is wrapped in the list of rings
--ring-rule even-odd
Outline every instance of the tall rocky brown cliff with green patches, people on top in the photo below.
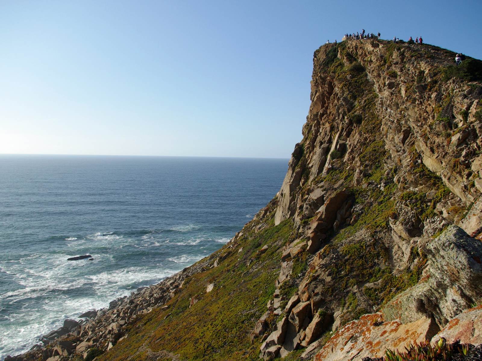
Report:
[[[362,360],[482,343],[482,62],[454,57],[320,47],[303,140],[268,206],[210,257],[17,360]]]

